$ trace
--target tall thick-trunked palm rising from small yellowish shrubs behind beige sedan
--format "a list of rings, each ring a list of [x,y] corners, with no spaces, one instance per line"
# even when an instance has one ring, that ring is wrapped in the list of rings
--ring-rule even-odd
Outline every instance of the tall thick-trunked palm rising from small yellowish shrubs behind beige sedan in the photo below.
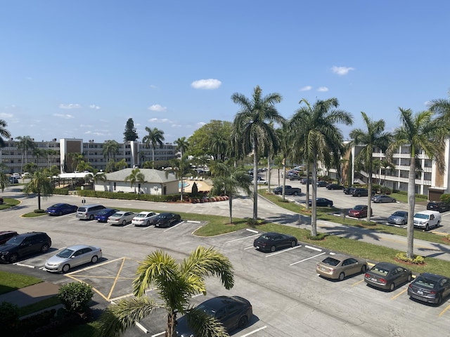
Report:
[[[448,126],[439,119],[433,119],[431,111],[413,114],[411,109],[400,111],[401,126],[394,130],[394,142],[387,148],[387,157],[392,159],[394,151],[400,146],[409,147],[409,176],[408,176],[408,229],[406,233],[408,246],[406,256],[413,258],[414,240],[414,206],[416,206],[416,159],[425,152],[428,158],[435,160],[440,173],[444,171],[445,137]]]

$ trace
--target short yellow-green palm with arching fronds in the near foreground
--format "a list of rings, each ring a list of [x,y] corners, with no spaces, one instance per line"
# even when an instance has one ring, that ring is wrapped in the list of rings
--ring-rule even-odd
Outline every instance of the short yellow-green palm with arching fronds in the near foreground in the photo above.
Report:
[[[136,322],[150,315],[156,308],[167,311],[166,337],[176,336],[177,315],[195,315],[189,300],[203,293],[206,295],[205,278],[217,276],[225,289],[234,285],[233,266],[229,258],[212,248],[199,246],[181,263],[164,251],[155,251],[139,264],[138,275],[133,282],[134,298],[124,298],[116,304],[109,305],[100,319],[99,337],[115,337],[127,330]],[[146,291],[153,289],[157,298],[149,298]],[[222,331],[214,336],[226,336],[223,326],[217,327],[217,321],[208,317],[195,315],[203,319],[191,328],[195,336],[203,336],[202,330]],[[215,326],[215,328],[213,327]],[[198,330],[200,329],[200,331]]]

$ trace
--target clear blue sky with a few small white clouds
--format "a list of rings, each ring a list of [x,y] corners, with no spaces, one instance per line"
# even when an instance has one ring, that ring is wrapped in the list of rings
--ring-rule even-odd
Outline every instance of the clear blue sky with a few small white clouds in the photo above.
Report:
[[[233,121],[233,93],[280,93],[290,118],[335,97],[399,125],[449,98],[450,2],[0,0],[0,119],[12,137],[165,141]]]

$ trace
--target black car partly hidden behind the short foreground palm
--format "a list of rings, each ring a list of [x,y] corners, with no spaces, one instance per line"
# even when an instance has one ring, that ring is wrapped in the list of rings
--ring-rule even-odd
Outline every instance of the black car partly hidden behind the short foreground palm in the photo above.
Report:
[[[252,318],[252,305],[248,300],[240,296],[218,296],[205,300],[195,310],[205,312],[216,318],[224,325],[226,332],[234,329],[243,329]],[[176,336],[193,337],[193,331],[188,326],[186,316],[178,319],[176,323]]]

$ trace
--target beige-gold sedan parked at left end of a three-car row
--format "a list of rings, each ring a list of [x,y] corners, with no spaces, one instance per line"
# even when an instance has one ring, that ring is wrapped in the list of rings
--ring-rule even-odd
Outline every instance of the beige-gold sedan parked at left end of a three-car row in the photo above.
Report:
[[[316,272],[328,279],[339,279],[342,281],[346,276],[365,273],[367,262],[359,258],[352,258],[336,254],[328,256],[316,265]]]

